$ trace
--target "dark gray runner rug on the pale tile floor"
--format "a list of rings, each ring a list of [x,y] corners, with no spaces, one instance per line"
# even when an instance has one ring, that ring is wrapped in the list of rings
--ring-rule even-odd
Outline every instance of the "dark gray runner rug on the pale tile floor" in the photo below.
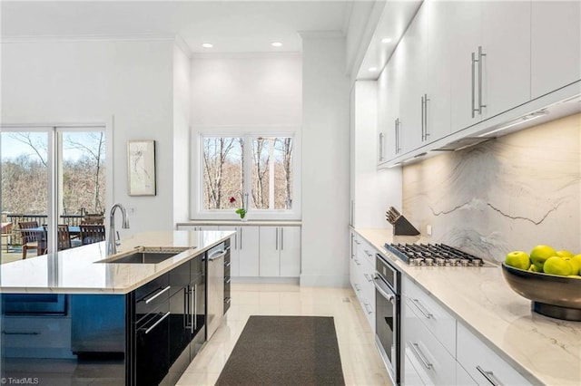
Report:
[[[344,385],[335,323],[251,316],[216,385]]]

